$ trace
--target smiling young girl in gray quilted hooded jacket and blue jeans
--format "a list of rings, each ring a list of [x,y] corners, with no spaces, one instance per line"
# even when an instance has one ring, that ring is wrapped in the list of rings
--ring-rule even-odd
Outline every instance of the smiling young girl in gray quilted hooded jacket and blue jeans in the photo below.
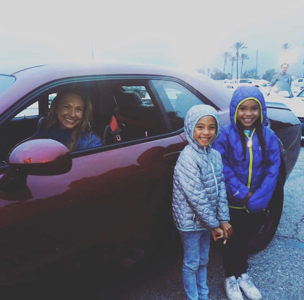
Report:
[[[183,283],[187,300],[208,300],[207,263],[210,232],[215,241],[232,234],[222,158],[211,149],[219,134],[219,114],[195,105],[185,117],[188,145],[178,157],[173,177],[172,212],[184,249]]]

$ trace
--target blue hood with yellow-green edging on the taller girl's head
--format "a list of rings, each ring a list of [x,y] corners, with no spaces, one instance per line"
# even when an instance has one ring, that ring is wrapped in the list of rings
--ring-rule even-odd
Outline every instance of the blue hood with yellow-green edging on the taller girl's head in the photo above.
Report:
[[[266,122],[267,109],[264,96],[256,86],[239,86],[232,95],[230,101],[230,122],[233,128],[237,129],[237,110],[244,101],[253,99],[260,105],[261,124],[264,127]]]

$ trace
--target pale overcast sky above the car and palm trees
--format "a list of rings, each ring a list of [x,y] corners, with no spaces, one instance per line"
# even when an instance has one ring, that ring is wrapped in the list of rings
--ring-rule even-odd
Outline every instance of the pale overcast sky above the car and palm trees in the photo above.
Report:
[[[7,64],[128,60],[223,71],[224,51],[244,42],[244,69],[304,72],[303,0],[6,1],[1,9],[0,73]],[[8,3],[9,2],[9,3]],[[210,1],[211,2],[211,1]],[[181,3],[181,4],[179,4]],[[283,43],[292,44],[286,52]],[[240,68],[239,68],[240,69]],[[226,72],[231,72],[228,62]],[[240,70],[239,70],[240,72]],[[236,75],[235,66],[233,74]],[[234,76],[235,77],[235,76]]]

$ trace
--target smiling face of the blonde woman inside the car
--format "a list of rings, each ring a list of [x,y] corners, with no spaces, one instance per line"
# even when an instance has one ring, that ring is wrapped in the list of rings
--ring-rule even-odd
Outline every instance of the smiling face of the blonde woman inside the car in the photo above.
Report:
[[[74,128],[82,121],[84,102],[82,98],[73,93],[62,96],[55,110],[59,126],[62,129]]]

